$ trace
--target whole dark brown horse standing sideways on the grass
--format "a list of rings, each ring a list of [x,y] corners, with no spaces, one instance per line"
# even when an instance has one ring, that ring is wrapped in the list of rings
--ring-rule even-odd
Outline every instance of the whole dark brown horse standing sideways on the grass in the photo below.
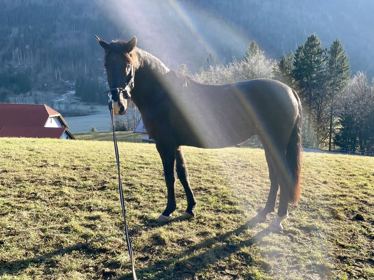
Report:
[[[104,49],[104,68],[113,100],[113,112],[123,115],[127,100],[138,107],[146,131],[161,157],[167,203],[159,221],[170,221],[176,210],[175,171],[187,197],[182,218],[195,216],[182,146],[223,148],[257,135],[269,168],[270,192],[254,220],[264,222],[275,211],[270,230],[281,231],[289,203],[300,198],[301,103],[295,90],[282,82],[255,79],[223,85],[199,83],[169,70],[137,47],[137,38],[110,43],[95,36]]]

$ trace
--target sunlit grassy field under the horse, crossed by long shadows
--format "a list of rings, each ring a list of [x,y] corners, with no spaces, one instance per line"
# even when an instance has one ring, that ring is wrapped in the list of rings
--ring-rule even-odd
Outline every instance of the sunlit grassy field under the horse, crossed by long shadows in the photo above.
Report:
[[[139,279],[374,278],[374,158],[304,153],[301,201],[271,233],[251,221],[269,191],[263,150],[185,147],[197,217],[178,219],[178,182],[160,224],[154,145],[119,148]],[[132,279],[112,142],[0,139],[0,279]]]

